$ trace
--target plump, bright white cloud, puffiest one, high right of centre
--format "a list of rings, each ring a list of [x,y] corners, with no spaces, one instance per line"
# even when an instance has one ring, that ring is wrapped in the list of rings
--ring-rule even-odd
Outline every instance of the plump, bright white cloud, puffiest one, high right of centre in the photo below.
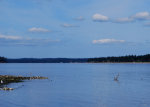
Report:
[[[109,18],[107,16],[104,16],[102,14],[94,14],[92,17],[93,21],[99,21],[99,22],[106,22],[109,21]]]

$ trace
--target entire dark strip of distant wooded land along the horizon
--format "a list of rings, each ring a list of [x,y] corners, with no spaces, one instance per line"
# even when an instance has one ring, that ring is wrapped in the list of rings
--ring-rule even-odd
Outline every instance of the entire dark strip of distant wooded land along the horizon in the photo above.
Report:
[[[18,58],[0,57],[0,63],[142,63],[150,62],[150,54],[96,58]]]

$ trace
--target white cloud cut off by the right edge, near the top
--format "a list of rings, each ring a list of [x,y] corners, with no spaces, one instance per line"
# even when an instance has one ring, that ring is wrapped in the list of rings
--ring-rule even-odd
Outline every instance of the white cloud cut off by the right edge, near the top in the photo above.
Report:
[[[132,16],[134,19],[138,20],[148,20],[150,19],[150,13],[149,12],[139,12]]]

